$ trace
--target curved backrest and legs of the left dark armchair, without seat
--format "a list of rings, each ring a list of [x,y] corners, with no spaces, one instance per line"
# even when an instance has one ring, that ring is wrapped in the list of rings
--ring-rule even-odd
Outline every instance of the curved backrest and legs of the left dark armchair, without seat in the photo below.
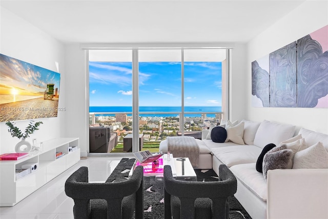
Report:
[[[67,196],[74,200],[74,218],[90,218],[90,200],[107,201],[107,218],[122,218],[122,200],[135,194],[135,217],[144,218],[144,171],[136,167],[132,176],[121,182],[89,183],[88,168],[80,167],[65,183]],[[90,207],[91,206],[91,207]]]

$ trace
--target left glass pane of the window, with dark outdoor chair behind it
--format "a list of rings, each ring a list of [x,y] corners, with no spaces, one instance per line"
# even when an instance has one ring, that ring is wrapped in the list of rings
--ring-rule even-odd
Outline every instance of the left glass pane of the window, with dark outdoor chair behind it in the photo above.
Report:
[[[90,152],[132,150],[132,50],[89,50],[89,112]]]

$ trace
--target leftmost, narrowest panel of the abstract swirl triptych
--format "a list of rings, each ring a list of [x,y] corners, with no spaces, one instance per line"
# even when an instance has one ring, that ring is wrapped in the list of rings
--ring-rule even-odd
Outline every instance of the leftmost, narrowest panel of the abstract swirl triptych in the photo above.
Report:
[[[252,106],[269,107],[269,55],[252,62]]]

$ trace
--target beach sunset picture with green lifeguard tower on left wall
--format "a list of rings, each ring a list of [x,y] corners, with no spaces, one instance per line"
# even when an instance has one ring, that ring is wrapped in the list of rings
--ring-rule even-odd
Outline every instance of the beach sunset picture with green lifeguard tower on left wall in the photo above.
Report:
[[[0,54],[0,122],[56,117],[60,74]]]

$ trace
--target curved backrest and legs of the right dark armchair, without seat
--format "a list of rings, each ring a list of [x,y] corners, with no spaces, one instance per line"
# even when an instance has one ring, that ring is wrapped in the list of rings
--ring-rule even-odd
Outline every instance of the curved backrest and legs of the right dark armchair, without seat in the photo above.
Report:
[[[212,218],[226,218],[226,203],[237,191],[237,180],[226,165],[219,166],[219,181],[191,182],[175,180],[171,166],[164,167],[165,218],[171,218],[171,195],[180,199],[180,218],[194,218],[196,198],[212,200]]]

